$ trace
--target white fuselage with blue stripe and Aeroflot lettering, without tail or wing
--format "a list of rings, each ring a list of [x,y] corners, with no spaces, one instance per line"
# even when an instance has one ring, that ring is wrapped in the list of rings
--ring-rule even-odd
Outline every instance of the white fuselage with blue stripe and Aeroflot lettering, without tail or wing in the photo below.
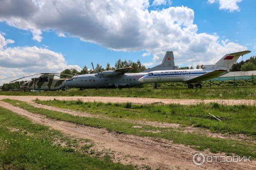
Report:
[[[206,74],[211,69],[152,71],[139,79],[140,82],[186,82],[188,79]]]

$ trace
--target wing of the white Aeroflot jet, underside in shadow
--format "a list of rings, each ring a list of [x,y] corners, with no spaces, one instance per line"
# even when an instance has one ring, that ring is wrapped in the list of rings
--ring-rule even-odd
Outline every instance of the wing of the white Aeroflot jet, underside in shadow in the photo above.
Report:
[[[186,82],[189,82],[189,83],[203,82],[203,81],[208,80],[208,79],[219,77],[219,76],[221,76],[223,74],[226,74],[226,73],[227,73],[227,70],[215,70],[215,71],[211,71],[209,73],[203,74],[201,76],[188,79]]]

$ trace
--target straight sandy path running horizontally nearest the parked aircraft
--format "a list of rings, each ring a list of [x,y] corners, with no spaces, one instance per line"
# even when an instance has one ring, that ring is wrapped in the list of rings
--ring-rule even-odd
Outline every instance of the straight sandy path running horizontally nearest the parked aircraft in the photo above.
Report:
[[[0,96],[0,99],[20,99],[24,101],[31,101],[36,98],[41,100],[59,99],[59,100],[77,100],[81,99],[84,102],[132,102],[135,104],[149,104],[154,102],[163,102],[165,104],[180,104],[180,105],[194,105],[200,102],[210,103],[217,102],[224,105],[256,105],[256,100],[252,99],[155,99],[155,98],[141,98],[141,97],[100,97],[100,96]]]

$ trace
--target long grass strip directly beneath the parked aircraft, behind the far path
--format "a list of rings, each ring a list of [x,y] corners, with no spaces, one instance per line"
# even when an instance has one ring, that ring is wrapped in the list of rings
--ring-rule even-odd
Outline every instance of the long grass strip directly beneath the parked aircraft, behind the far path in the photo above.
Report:
[[[256,88],[123,88],[67,91],[18,92],[0,91],[0,95],[14,96],[120,96],[163,99],[256,99]]]

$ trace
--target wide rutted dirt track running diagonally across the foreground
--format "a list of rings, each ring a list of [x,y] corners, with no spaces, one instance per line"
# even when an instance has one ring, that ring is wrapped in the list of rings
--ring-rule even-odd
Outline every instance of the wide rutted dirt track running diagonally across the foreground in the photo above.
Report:
[[[192,155],[197,151],[181,144],[177,145],[166,141],[157,141],[138,136],[109,133],[104,129],[47,119],[45,116],[29,113],[26,110],[5,102],[0,102],[0,106],[22,116],[26,116],[33,122],[48,125],[56,130],[61,130],[61,132],[67,135],[92,139],[95,141],[97,147],[111,148],[111,150],[115,150],[115,159],[119,159],[125,164],[148,164],[153,169],[160,167],[161,170],[253,170],[256,167],[256,161],[251,163],[205,163],[198,167],[192,163]],[[204,153],[209,154],[209,152]],[[146,159],[141,160],[140,157]]]

